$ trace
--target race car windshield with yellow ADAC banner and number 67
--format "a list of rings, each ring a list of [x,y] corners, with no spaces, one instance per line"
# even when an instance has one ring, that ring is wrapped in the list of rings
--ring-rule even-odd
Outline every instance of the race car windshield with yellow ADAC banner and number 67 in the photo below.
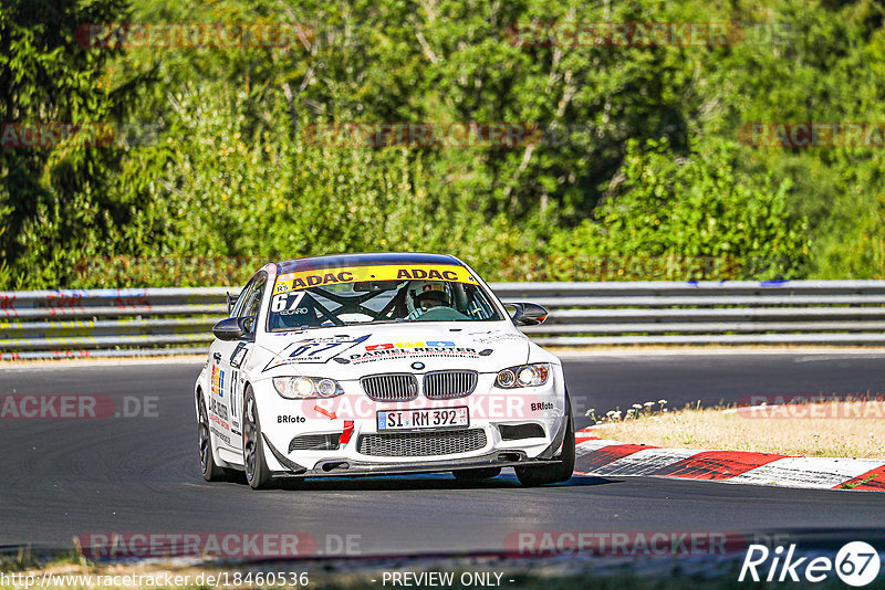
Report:
[[[490,297],[464,266],[357,266],[279,275],[268,331],[500,319]]]

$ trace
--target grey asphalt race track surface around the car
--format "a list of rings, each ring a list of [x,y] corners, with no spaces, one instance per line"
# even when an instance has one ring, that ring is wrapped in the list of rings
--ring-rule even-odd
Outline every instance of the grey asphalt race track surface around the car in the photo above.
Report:
[[[324,480],[253,492],[199,474],[190,389],[199,364],[0,369],[0,396],[156,397],[156,415],[0,420],[0,547],[69,547],[90,533],[310,533],[360,536],[364,555],[497,551],[514,531],[785,533],[884,539],[885,495],[654,478],[573,477],[523,488],[512,474],[476,486],[448,474]],[[885,352],[570,357],[576,409],[757,393],[885,391]],[[586,425],[579,417],[576,425]]]

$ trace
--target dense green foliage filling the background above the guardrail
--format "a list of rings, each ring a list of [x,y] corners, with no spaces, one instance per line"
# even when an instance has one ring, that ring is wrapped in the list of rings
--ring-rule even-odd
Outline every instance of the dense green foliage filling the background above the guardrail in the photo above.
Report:
[[[0,7],[4,130],[114,129],[0,148],[0,288],[230,284],[269,259],[388,250],[451,252],[492,280],[885,278],[885,148],[746,130],[885,120],[877,0]],[[145,46],[84,29],[197,22],[300,35]],[[730,33],[570,45],[538,25],[553,22]],[[346,135],[471,122],[527,134]]]

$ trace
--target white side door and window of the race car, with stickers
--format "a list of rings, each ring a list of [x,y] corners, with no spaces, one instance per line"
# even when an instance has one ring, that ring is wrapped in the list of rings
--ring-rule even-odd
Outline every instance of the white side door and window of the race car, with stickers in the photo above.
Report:
[[[250,333],[239,340],[216,339],[209,349],[208,403],[209,425],[221,444],[242,447],[241,417],[243,368],[254,343],[261,296],[267,284],[267,273],[259,272],[243,287],[230,317],[247,317]]]

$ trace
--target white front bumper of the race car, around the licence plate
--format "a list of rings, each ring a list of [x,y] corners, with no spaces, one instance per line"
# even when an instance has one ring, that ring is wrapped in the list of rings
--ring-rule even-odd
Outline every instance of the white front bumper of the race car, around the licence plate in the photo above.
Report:
[[[433,473],[455,470],[481,467],[512,467],[522,465],[544,465],[555,463],[553,456],[562,446],[566,430],[565,393],[561,368],[555,367],[552,378],[544,386],[524,388],[519,393],[491,388],[492,376],[487,383],[477,388],[482,394],[451,399],[434,407],[455,408],[470,407],[470,424],[466,429],[451,430],[452,434],[468,429],[482,430],[485,442],[473,445],[465,452],[457,449],[441,454],[429,455],[377,455],[362,453],[361,436],[385,436],[399,434],[399,431],[378,431],[375,412],[389,410],[388,403],[376,403],[367,400],[358,383],[343,383],[345,398],[353,394],[351,401],[335,407],[335,419],[320,417],[304,411],[303,402],[282,400],[277,393],[268,392],[259,401],[262,435],[264,438],[266,461],[275,476],[287,477],[330,477],[330,476],[365,476],[404,473]],[[483,384],[486,387],[483,387]],[[486,398],[483,398],[486,396]],[[500,399],[491,399],[493,396]],[[511,403],[516,396],[522,396],[522,404]],[[262,403],[264,401],[266,403]],[[312,404],[313,402],[310,402]],[[308,405],[310,405],[308,404]],[[415,407],[426,408],[426,400],[415,400]],[[360,408],[355,414],[347,415],[347,409]],[[537,408],[537,409],[535,409]],[[298,414],[296,422],[283,421],[281,415]],[[304,417],[302,420],[301,417]],[[353,418],[353,420],[347,420]],[[350,422],[350,424],[347,424]],[[521,439],[509,439],[502,434],[501,426],[535,425],[535,435]],[[293,450],[292,441],[299,436],[327,435],[337,441],[337,435],[347,426],[353,428],[350,441],[337,449]],[[437,433],[440,431],[426,429],[412,431],[412,434]],[[409,434],[409,433],[406,433]]]

